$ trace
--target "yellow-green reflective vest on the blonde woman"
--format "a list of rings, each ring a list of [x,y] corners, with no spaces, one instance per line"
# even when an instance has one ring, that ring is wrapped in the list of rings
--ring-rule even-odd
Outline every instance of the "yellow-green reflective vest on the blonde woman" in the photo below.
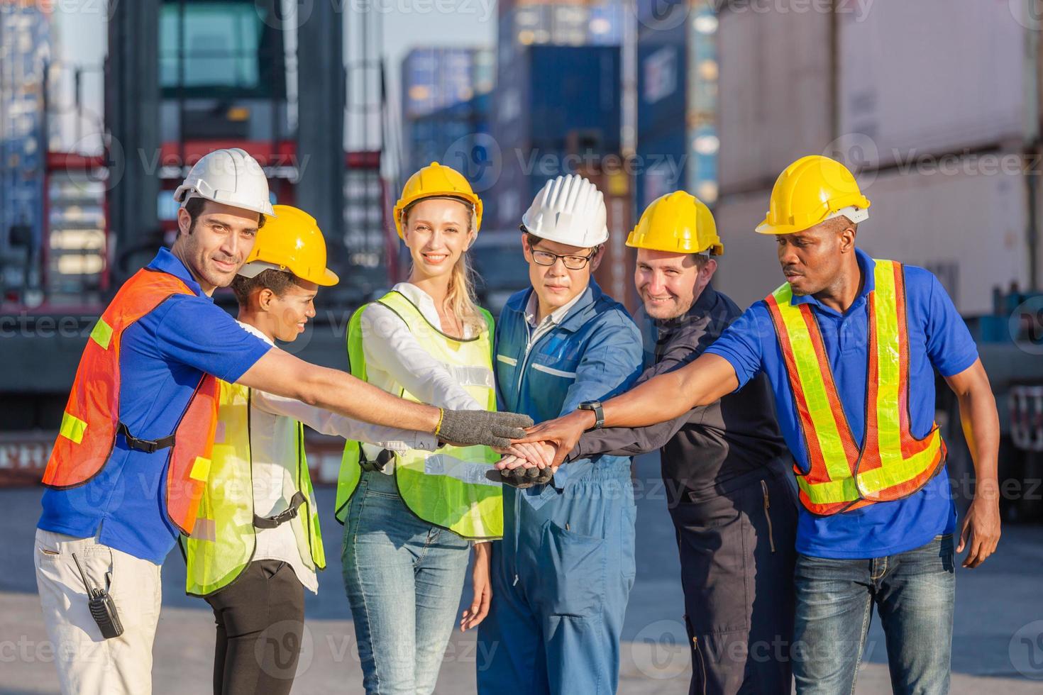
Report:
[[[379,303],[390,308],[409,327],[417,342],[442,363],[463,389],[489,411],[496,409],[492,380],[492,316],[482,309],[488,330],[461,340],[446,336],[431,325],[405,295],[389,292]],[[347,354],[351,374],[366,377],[362,349],[362,321],[366,306],[351,316],[347,328]],[[397,395],[417,401],[401,384]],[[395,453],[395,481],[406,505],[428,523],[466,539],[500,538],[504,533],[503,496],[500,483],[485,477],[488,467],[500,458],[484,446],[444,446],[437,451],[410,449]],[[337,519],[344,523],[347,502],[359,485],[359,443],[348,442],[337,482]]]

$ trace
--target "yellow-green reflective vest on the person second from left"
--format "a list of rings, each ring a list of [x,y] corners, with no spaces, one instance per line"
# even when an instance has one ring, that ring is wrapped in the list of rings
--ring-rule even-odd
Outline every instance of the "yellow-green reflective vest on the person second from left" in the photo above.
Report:
[[[191,536],[181,536],[188,566],[185,591],[209,596],[224,589],[253,559],[257,529],[253,527],[253,478],[250,456],[250,390],[218,382],[217,432],[210,477],[199,502]],[[297,516],[285,523],[293,527],[297,550],[311,569],[325,568],[315,492],[305,458],[305,428],[297,423],[296,441],[280,452],[284,461],[295,461],[296,489],[305,495]],[[291,491],[286,496],[292,496]]]

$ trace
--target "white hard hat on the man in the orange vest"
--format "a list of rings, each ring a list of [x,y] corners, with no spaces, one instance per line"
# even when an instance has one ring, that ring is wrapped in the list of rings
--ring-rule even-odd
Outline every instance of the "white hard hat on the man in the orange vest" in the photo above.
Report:
[[[200,157],[185,181],[174,191],[174,200],[181,207],[190,198],[205,198],[233,207],[275,216],[268,197],[268,179],[261,165],[238,147],[214,150]]]

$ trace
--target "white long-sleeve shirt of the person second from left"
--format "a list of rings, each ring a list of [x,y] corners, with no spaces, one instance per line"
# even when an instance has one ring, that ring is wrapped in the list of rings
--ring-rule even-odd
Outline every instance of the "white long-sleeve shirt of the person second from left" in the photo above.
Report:
[[[253,326],[240,324],[262,340],[271,341]],[[359,442],[372,442],[380,449],[434,451],[438,440],[434,435],[385,427],[330,413],[322,408],[284,398],[258,389],[250,391],[250,458],[252,462],[253,511],[261,517],[271,517],[287,510],[296,491],[297,422],[302,422],[323,435],[343,437]],[[289,564],[297,579],[313,592],[318,579],[300,557],[295,537],[296,524],[284,523],[275,528],[258,528],[253,560],[278,560]]]

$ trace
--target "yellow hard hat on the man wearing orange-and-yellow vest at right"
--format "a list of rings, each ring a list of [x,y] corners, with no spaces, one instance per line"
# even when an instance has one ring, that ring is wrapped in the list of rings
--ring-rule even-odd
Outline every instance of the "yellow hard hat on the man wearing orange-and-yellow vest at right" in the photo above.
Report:
[[[779,174],[761,234],[792,234],[845,215],[855,224],[869,218],[869,199],[848,168],[821,154],[801,157]]]

